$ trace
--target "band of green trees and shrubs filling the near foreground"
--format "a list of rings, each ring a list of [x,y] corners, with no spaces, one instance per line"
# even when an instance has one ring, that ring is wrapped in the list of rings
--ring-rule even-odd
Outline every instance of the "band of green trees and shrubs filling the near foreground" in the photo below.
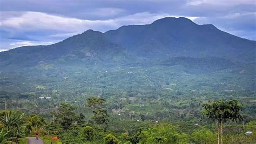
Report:
[[[105,108],[106,100],[86,100],[91,115],[77,113],[77,106],[62,103],[51,112],[53,119],[17,110],[0,113],[0,142],[23,142],[39,132],[45,143],[254,143],[256,121],[242,125],[242,105],[237,100],[214,100],[203,105],[204,124],[182,121],[114,120]],[[87,109],[89,110],[89,109]],[[86,120],[87,119],[87,120]],[[213,120],[213,121],[211,121]],[[217,121],[217,125],[214,121]],[[240,123],[232,121],[240,120]],[[239,121],[238,121],[239,122]],[[125,124],[126,123],[126,124]],[[239,131],[237,131],[239,129]],[[236,132],[235,132],[236,131]],[[59,140],[52,140],[51,136]]]

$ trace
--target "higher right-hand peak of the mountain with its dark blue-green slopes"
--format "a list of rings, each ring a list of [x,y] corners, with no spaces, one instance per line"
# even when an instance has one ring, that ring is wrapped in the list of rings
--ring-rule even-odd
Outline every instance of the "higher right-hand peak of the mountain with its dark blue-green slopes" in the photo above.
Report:
[[[226,57],[255,52],[256,43],[187,18],[166,17],[150,25],[122,26],[104,33],[112,42],[144,57]]]

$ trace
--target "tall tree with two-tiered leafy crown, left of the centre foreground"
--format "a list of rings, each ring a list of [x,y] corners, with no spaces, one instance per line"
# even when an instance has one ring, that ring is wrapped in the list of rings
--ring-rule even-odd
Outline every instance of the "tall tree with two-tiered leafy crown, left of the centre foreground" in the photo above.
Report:
[[[106,102],[103,98],[91,97],[87,99],[87,105],[92,108],[93,117],[95,124],[105,124],[107,125],[109,114],[107,110],[102,107]]]

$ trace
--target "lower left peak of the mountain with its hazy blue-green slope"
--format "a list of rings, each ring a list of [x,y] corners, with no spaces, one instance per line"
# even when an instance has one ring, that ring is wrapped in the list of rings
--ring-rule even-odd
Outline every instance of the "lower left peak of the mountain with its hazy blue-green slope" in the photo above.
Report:
[[[34,66],[53,61],[90,64],[96,61],[124,60],[126,56],[125,50],[107,40],[102,32],[87,30],[56,44],[23,46],[1,52],[0,64]]]

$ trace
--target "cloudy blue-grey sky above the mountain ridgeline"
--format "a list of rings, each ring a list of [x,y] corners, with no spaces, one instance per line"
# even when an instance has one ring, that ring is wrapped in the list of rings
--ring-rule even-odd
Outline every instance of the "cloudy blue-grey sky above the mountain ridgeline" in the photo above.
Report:
[[[255,0],[0,0],[0,51],[48,45],[86,30],[186,17],[256,40]]]

